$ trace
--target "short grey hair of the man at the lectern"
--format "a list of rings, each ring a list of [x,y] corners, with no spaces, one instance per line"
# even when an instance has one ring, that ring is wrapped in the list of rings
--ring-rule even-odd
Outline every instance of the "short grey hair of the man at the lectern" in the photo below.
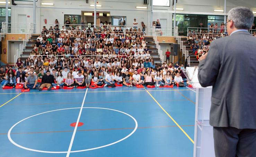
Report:
[[[228,12],[228,20],[232,20],[237,29],[249,30],[253,25],[254,15],[246,7],[236,7]]]

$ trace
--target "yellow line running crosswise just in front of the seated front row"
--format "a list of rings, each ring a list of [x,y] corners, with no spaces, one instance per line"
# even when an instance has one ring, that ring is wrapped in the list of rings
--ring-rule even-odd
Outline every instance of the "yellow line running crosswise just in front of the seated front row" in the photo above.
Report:
[[[133,91],[90,91],[87,93],[104,93],[104,92],[142,92],[143,90],[133,90]],[[149,91],[190,91],[190,90],[149,90]],[[85,93],[83,92],[24,92],[24,93],[0,93],[0,94],[51,94],[51,93]]]

